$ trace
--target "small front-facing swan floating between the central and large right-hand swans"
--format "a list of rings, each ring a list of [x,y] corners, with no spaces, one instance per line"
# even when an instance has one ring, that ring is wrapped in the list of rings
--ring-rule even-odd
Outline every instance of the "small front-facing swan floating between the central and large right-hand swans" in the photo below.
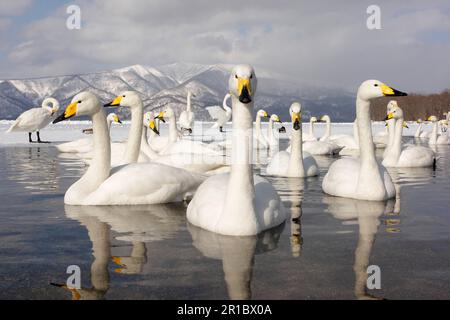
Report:
[[[293,126],[291,152],[278,152],[267,166],[268,175],[303,178],[319,174],[316,160],[309,153],[302,151],[301,108],[298,102],[294,102],[289,108]]]

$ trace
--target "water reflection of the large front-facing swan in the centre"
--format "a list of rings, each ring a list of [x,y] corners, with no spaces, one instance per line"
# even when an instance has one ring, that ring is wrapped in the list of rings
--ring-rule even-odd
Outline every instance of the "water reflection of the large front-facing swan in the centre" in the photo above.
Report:
[[[256,236],[224,236],[188,223],[192,242],[205,257],[222,260],[228,296],[232,300],[250,299],[251,281],[256,254],[278,247],[284,223]]]

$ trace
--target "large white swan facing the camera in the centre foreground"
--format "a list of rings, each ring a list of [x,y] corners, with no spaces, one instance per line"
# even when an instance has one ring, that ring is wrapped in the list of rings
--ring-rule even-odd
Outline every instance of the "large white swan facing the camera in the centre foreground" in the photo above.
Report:
[[[250,236],[283,223],[286,210],[273,186],[252,172],[253,98],[256,76],[249,65],[233,68],[233,142],[229,174],[208,178],[187,209],[190,223],[232,236]]]

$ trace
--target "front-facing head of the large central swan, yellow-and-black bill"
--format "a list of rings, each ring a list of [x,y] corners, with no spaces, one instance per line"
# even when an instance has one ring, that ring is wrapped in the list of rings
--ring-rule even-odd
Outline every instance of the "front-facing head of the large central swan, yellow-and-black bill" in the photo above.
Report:
[[[256,92],[256,76],[253,67],[247,64],[240,64],[231,71],[228,81],[228,90],[243,104],[253,101]]]

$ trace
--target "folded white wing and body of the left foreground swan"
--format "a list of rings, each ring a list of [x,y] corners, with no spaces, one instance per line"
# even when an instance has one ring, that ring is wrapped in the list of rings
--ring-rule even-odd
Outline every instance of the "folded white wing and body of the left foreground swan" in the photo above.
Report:
[[[161,164],[130,164],[111,176],[86,199],[89,205],[136,205],[182,201],[204,176]]]

